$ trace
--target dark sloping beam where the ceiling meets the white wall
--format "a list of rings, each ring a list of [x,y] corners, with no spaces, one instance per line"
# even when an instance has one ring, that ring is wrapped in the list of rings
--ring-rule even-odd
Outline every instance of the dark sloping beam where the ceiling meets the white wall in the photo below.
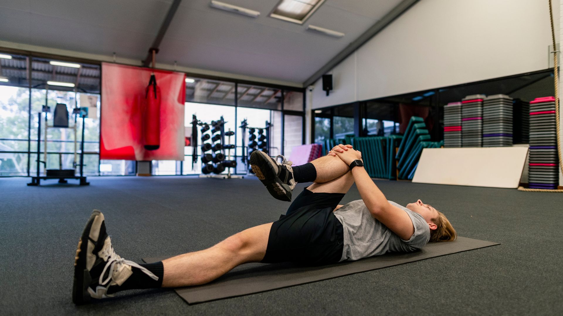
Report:
[[[325,64],[321,69],[316,71],[309,79],[305,80],[303,87],[309,87],[318,80],[322,75],[326,74],[328,71],[333,69],[336,65],[340,64],[346,57],[350,56],[356,49],[360,48],[363,44],[368,42],[372,37],[374,37],[381,30],[385,29],[387,25],[391,24],[397,17],[403,14],[406,10],[409,10],[413,4],[417,3],[419,0],[403,0],[401,3],[397,4],[389,13],[378,20],[376,24],[372,25],[367,31],[361,34],[354,42],[348,44],[341,52],[334,56],[327,64]]]

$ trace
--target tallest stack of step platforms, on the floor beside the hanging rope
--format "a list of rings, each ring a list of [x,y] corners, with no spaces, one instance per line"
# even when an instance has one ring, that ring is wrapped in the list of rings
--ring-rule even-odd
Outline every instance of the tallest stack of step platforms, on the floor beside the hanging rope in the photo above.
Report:
[[[530,102],[529,187],[557,189],[558,177],[555,98],[536,98]]]

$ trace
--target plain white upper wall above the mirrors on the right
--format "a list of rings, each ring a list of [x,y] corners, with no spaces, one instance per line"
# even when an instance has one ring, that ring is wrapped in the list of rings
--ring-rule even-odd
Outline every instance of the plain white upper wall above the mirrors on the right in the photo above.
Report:
[[[312,108],[546,69],[550,43],[547,1],[421,0],[329,72],[329,97],[316,82]]]

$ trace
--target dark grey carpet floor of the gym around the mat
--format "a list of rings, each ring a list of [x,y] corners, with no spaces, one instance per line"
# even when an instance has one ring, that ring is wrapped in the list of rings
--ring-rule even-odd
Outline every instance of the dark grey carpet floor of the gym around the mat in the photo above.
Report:
[[[289,206],[256,178],[89,179],[89,187],[55,180],[26,187],[29,179],[0,178],[0,314],[563,314],[563,194],[395,181],[376,181],[389,200],[421,198],[460,236],[502,245],[209,303],[187,305],[171,290],[135,290],[77,307],[70,294],[74,252],[92,209],[104,212],[117,253],[140,262],[212,246],[272,222]],[[352,187],[343,202],[358,198]]]

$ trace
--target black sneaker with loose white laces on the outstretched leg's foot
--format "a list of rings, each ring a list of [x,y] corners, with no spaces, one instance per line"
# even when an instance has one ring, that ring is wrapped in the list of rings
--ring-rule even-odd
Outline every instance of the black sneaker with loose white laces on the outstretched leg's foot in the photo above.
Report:
[[[144,267],[115,254],[106,233],[104,214],[94,210],[78,241],[74,258],[72,300],[74,304],[88,303],[91,299],[112,297],[110,286],[119,286],[133,274],[131,267],[139,268],[151,278],[158,277]]]

